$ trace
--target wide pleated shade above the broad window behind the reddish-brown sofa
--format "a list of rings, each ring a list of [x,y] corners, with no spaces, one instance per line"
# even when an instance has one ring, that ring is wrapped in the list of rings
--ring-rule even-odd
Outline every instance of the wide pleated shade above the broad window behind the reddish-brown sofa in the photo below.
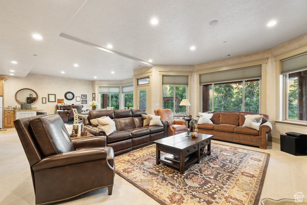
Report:
[[[236,69],[230,71],[223,71],[218,73],[208,73],[200,75],[200,84],[221,83],[229,81],[240,81],[261,78],[261,65]]]

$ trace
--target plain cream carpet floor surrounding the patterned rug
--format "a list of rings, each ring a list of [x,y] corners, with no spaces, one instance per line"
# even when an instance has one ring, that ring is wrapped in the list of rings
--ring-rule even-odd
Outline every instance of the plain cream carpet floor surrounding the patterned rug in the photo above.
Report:
[[[260,199],[294,199],[293,195],[297,192],[303,192],[307,196],[307,156],[293,156],[281,152],[280,145],[275,143],[270,143],[266,150],[260,150],[258,147],[218,140],[212,140],[212,142],[270,153],[270,162]],[[0,132],[0,193],[0,204],[35,204],[29,163],[14,128]],[[158,203],[116,174],[111,196],[108,195],[107,188],[102,188],[58,204],[151,205]]]

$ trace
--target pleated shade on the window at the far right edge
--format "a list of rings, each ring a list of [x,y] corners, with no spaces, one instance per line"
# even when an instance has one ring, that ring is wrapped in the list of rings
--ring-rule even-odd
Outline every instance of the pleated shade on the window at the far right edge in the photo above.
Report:
[[[307,53],[282,60],[282,74],[307,70]]]

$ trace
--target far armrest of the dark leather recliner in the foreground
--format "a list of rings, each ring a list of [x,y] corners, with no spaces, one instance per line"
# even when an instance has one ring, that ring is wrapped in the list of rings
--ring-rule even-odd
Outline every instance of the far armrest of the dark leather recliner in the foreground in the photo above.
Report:
[[[72,140],[74,148],[84,148],[84,147],[106,147],[107,141],[106,136],[96,136],[96,137],[86,137]]]

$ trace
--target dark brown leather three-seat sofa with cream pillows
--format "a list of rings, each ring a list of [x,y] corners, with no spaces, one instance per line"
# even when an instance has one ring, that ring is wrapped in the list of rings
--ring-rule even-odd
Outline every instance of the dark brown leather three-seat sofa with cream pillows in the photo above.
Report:
[[[107,136],[106,132],[91,124],[90,120],[109,116],[115,122],[116,131],[107,136],[107,146],[114,149],[115,156],[152,144],[154,140],[165,137],[167,121],[163,126],[143,126],[143,109],[92,110],[82,118],[82,124],[94,136]]]

